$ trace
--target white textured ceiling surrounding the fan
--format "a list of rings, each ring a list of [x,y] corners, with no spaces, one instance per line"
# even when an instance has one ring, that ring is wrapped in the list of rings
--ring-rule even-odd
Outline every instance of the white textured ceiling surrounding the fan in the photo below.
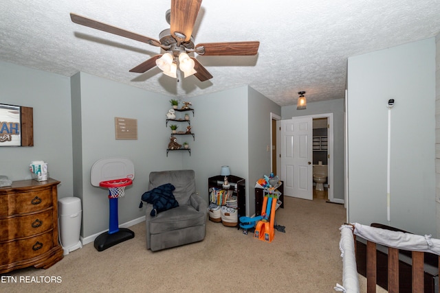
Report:
[[[257,56],[197,56],[214,76],[177,80],[155,67],[160,54],[128,38],[72,23],[70,12],[158,39],[170,0],[2,0],[0,60],[71,76],[78,71],[176,97],[248,84],[281,106],[344,97],[347,58],[440,32],[439,0],[203,0],[195,43],[259,40]]]

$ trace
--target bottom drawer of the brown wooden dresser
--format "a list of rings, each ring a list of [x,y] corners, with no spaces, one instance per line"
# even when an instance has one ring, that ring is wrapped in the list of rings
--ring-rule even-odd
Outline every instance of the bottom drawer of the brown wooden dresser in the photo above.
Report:
[[[0,243],[0,265],[32,259],[54,247],[52,230],[27,239]]]

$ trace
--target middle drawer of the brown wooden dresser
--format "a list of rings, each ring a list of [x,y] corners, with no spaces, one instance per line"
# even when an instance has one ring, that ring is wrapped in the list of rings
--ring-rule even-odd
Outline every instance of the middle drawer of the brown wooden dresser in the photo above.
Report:
[[[51,207],[40,213],[0,217],[0,242],[40,234],[54,228],[53,214]]]

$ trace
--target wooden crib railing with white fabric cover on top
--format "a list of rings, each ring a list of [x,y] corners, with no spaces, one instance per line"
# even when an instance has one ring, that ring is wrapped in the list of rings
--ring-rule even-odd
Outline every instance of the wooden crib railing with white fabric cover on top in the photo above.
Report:
[[[358,235],[366,239],[367,293],[376,292],[377,244],[388,248],[388,292],[399,292],[399,249],[411,251],[412,293],[424,292],[424,253],[440,255],[439,239],[432,239],[430,235],[413,235],[410,233],[364,226],[358,223],[342,225],[340,230],[340,250],[343,258],[343,285],[337,284],[335,290],[347,293],[359,292],[359,283],[357,281],[358,272],[355,263],[355,238],[356,235]],[[440,275],[440,256],[438,257],[438,261]],[[356,281],[353,281],[353,279],[356,279]]]

